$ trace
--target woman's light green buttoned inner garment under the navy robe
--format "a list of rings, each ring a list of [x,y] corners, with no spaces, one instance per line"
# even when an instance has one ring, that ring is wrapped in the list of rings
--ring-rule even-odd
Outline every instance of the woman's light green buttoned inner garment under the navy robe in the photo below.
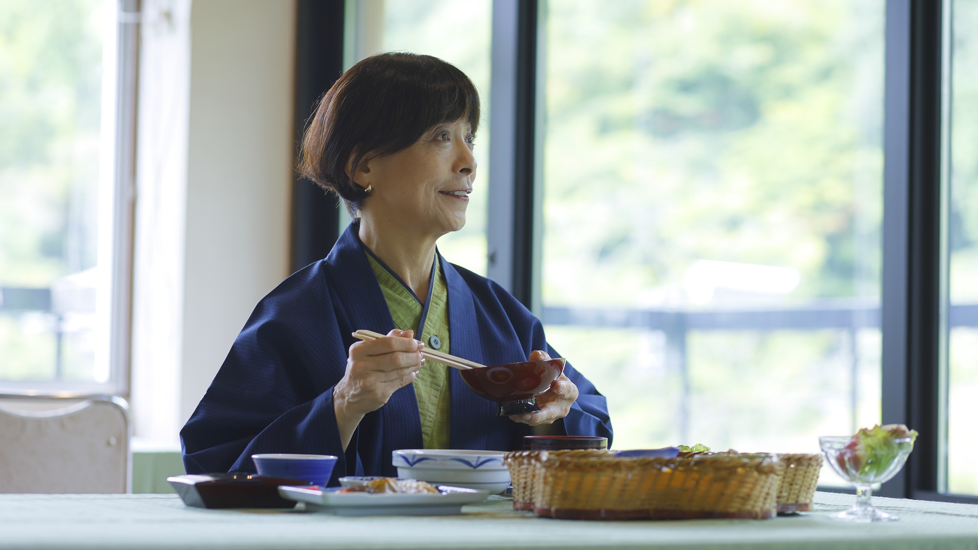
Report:
[[[383,298],[387,301],[390,316],[394,326],[402,331],[417,331],[422,319],[423,306],[408,289],[404,288],[393,275],[387,272],[374,257],[368,253],[370,266],[377,276]],[[434,285],[431,288],[431,301],[428,306],[427,318],[424,320],[424,334],[415,335],[428,348],[433,348],[429,342],[432,335],[441,340],[438,351],[450,353],[448,342],[448,288],[442,276],[441,265],[435,271]],[[449,435],[449,411],[452,406],[451,393],[448,384],[448,366],[428,359],[418,378],[415,379],[415,396],[418,398],[418,411],[422,420],[422,441],[426,449],[447,449]]]

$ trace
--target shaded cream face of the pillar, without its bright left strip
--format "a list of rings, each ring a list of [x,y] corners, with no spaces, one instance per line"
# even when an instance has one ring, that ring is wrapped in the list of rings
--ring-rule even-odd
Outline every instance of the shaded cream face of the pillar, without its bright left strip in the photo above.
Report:
[[[181,424],[289,276],[295,2],[197,0],[191,32]]]

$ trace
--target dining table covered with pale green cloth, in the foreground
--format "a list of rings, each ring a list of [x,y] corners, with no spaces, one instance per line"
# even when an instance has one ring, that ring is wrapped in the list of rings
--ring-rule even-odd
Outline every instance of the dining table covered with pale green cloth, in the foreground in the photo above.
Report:
[[[896,522],[847,524],[852,494],[817,492],[812,512],[771,520],[574,521],[491,496],[456,516],[186,506],[175,494],[0,494],[0,549],[978,548],[978,505],[874,497]]]

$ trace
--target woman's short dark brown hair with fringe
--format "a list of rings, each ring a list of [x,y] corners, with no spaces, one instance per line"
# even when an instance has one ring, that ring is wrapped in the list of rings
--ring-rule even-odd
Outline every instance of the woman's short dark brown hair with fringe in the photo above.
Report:
[[[462,70],[432,56],[378,54],[344,72],[323,96],[302,138],[299,173],[356,215],[369,197],[352,175],[364,157],[403,151],[431,126],[462,119],[474,134],[479,94]]]

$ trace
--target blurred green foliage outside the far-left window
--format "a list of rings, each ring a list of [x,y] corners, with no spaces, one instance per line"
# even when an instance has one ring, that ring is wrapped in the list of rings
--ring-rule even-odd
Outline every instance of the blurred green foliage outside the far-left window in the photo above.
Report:
[[[106,6],[0,2],[2,287],[47,288],[95,265]],[[0,380],[52,376],[53,328],[43,314],[0,312]]]

